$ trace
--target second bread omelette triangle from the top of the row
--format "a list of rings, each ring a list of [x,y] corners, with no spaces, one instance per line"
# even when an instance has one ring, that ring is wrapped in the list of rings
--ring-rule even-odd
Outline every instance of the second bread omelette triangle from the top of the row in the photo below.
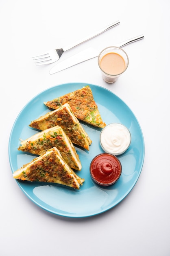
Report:
[[[92,144],[92,140],[73,114],[68,103],[65,103],[57,110],[50,111],[46,115],[31,121],[29,126],[38,130],[46,130],[57,125],[63,128],[72,143],[89,150],[89,145]]]

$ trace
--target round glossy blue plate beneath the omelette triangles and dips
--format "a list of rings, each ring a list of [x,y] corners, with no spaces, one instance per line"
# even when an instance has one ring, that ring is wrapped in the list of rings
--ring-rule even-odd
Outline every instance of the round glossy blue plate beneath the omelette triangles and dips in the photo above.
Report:
[[[9,161],[12,172],[30,162],[35,155],[17,150],[20,139],[27,139],[37,133],[28,125],[34,119],[49,112],[44,101],[50,101],[68,92],[78,90],[85,83],[67,83],[49,88],[29,101],[18,115],[9,138]],[[57,184],[22,182],[16,180],[22,191],[42,209],[60,216],[80,218],[103,213],[121,202],[135,186],[144,162],[144,138],[139,123],[129,107],[111,91],[88,84],[92,89],[103,121],[124,124],[131,132],[129,149],[118,158],[122,164],[122,175],[116,184],[108,187],[96,185],[89,173],[92,159],[103,153],[99,143],[100,128],[82,124],[92,145],[89,151],[75,147],[80,157],[82,170],[78,175],[85,179],[80,190],[69,189]]]

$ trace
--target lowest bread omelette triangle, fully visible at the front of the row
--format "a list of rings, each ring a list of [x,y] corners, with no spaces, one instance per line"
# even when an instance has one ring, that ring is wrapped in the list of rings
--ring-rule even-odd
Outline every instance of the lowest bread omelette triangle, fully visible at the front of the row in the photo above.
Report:
[[[13,173],[13,177],[31,182],[58,183],[74,189],[79,189],[84,182],[84,179],[68,166],[56,147],[47,150],[30,163],[24,164]]]

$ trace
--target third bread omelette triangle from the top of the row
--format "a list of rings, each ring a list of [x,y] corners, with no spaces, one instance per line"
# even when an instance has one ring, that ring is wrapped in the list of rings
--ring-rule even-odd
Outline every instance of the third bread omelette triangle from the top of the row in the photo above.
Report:
[[[65,162],[73,169],[80,171],[82,166],[72,141],[60,126],[54,126],[20,142],[18,150],[35,155],[42,155],[46,150],[56,147]]]

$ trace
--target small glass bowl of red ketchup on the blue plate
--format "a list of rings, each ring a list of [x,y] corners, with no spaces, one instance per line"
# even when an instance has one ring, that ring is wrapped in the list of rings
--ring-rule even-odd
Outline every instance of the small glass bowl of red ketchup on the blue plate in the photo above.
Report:
[[[122,173],[122,165],[115,155],[102,153],[94,157],[90,164],[90,174],[94,182],[109,186],[117,182]]]

